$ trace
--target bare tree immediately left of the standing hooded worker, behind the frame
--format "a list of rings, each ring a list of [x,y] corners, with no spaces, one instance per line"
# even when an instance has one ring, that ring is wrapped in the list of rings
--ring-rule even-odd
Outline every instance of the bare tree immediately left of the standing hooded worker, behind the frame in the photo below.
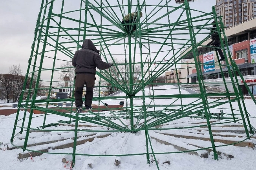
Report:
[[[61,63],[60,68],[62,69],[59,71],[59,82],[57,85],[65,87],[68,90],[68,95],[72,96],[75,78],[75,67],[72,66],[72,60]]]

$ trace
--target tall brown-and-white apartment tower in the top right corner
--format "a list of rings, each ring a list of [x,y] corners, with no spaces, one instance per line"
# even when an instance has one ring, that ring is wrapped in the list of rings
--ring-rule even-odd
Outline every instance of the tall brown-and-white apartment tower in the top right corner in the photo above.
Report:
[[[256,17],[256,0],[216,0],[216,13],[230,28]]]

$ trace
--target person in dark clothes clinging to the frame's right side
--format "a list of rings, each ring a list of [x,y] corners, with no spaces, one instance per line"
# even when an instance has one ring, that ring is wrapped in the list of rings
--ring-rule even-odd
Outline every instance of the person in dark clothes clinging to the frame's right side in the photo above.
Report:
[[[217,22],[217,24],[218,24],[218,22]],[[217,28],[216,28],[216,21],[215,20],[212,22],[212,27],[210,29],[211,29],[212,41],[210,43],[208,43],[207,45],[212,46],[212,47],[218,47],[215,50],[218,51],[219,56],[221,57],[221,59],[218,58],[219,61],[225,60],[222,49],[219,49],[221,47],[221,45],[220,45],[221,40],[219,39],[219,33],[216,32]]]

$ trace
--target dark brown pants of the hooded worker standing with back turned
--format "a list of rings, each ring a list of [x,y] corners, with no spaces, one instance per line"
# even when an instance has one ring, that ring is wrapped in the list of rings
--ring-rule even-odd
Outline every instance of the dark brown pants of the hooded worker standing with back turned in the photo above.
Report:
[[[84,85],[86,85],[86,94],[85,94],[85,106],[91,106],[91,99],[93,98],[93,88],[95,83],[95,75],[88,73],[79,73],[76,74],[75,78],[75,107],[82,106],[82,92]]]

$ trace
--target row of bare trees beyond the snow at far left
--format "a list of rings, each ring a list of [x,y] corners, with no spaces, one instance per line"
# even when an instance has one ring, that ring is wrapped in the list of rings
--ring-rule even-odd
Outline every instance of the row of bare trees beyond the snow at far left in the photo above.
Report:
[[[36,79],[37,73],[34,74],[31,86],[32,89],[35,88]],[[30,81],[31,77],[29,77],[27,80],[26,89],[29,88]],[[20,65],[13,65],[9,68],[8,74],[0,74],[0,99],[7,103],[10,101],[17,102],[24,83],[25,76],[23,76]],[[42,81],[40,81],[40,85],[42,85]],[[33,91],[31,91],[31,94],[33,94]],[[26,96],[27,94],[24,95],[24,97]]]

